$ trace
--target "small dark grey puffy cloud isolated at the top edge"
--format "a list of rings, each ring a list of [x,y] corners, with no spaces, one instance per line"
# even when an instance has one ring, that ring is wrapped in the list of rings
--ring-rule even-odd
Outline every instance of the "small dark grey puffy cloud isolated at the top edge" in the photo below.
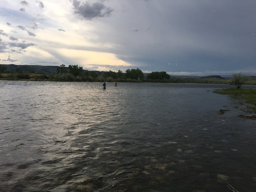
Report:
[[[92,20],[97,17],[106,17],[113,12],[113,9],[106,7],[101,2],[81,3],[78,0],[73,0],[73,7],[75,8],[75,13],[82,15],[87,20]]]

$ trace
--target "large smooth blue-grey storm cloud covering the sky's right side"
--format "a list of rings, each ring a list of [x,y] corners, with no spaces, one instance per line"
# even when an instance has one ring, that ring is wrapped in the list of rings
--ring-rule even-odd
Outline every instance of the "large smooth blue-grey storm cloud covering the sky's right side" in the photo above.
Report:
[[[142,70],[155,71],[228,71],[253,65],[256,1],[246,2],[161,0],[148,1],[148,6],[138,1],[130,3],[130,7],[124,6],[128,11],[120,15],[120,20],[126,21],[129,17],[133,31],[140,30],[126,33],[129,28],[124,26],[118,31],[126,34],[128,41],[120,40],[126,45],[122,45],[116,55],[125,55],[125,61],[141,66]]]

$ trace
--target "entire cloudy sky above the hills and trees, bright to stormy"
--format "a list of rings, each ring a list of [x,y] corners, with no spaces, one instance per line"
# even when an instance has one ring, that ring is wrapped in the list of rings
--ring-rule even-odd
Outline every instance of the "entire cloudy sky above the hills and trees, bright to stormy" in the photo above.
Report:
[[[0,64],[256,75],[256,1],[0,0]]]

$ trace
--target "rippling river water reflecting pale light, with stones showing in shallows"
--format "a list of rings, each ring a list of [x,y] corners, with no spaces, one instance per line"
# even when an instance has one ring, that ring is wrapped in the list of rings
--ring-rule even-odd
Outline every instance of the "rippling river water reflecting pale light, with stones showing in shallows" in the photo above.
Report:
[[[0,191],[256,191],[256,123],[226,87],[0,81]]]

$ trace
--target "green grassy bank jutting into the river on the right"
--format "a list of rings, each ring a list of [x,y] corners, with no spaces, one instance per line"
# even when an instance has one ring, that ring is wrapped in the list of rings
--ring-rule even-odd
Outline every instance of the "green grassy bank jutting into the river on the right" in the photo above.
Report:
[[[247,113],[256,113],[256,89],[216,89],[214,93],[229,94],[239,100],[240,105],[247,104]]]

